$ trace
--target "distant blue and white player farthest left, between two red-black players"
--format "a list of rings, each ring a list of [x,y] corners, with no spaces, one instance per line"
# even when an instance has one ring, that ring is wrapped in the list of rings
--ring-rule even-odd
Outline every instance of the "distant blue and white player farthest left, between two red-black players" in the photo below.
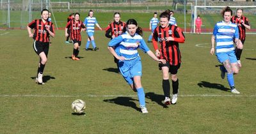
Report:
[[[84,25],[86,26],[86,33],[88,35],[88,40],[85,46],[85,50],[88,50],[89,45],[90,45],[90,41],[92,41],[92,46],[93,46],[93,50],[98,50],[99,48],[96,47],[95,41],[94,41],[94,25],[96,25],[97,27],[99,27],[100,30],[101,27],[99,26],[97,20],[95,17],[93,17],[93,11],[90,10],[88,13],[88,17],[86,17],[84,19]]]

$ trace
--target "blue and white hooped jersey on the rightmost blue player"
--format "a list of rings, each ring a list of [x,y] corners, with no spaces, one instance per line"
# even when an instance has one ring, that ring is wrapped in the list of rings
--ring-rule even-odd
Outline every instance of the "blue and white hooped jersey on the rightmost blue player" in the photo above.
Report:
[[[236,24],[224,21],[217,22],[213,29],[213,35],[216,41],[216,54],[220,52],[232,52],[234,48],[234,39],[239,38],[239,29]]]

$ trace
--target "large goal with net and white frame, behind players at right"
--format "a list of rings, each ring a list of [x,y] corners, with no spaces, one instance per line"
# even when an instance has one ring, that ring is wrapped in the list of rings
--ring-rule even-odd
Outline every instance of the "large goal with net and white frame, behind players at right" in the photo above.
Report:
[[[200,18],[202,19],[202,33],[212,33],[212,30],[216,24],[216,22],[219,22],[223,20],[223,17],[221,16],[221,10],[225,8],[226,6],[195,6],[192,11],[191,15],[191,33],[195,33],[195,20],[197,15],[200,15]],[[256,34],[256,19],[255,19],[255,13],[256,13],[256,6],[229,6],[232,11],[233,15],[236,15],[237,8],[243,9],[243,15],[249,19],[249,23],[251,26],[251,29],[246,29],[246,34]]]

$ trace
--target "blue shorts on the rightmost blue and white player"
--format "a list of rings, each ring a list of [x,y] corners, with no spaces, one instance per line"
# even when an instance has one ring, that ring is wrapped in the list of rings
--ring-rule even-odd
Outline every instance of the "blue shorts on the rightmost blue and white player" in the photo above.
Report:
[[[228,59],[228,61],[230,61],[230,63],[236,63],[237,62],[235,51],[228,52],[228,53],[221,52],[219,54],[216,54],[216,56],[217,56],[217,59],[220,63],[223,63],[224,61],[227,61],[227,59]]]

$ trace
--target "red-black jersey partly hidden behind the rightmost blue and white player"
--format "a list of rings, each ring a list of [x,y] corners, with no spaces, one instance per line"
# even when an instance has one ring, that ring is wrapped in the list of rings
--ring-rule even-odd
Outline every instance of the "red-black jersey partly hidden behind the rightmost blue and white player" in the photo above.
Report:
[[[233,16],[231,18],[231,22],[237,24],[237,26],[238,26],[238,29],[239,29],[239,39],[240,40],[245,40],[246,27],[243,26],[242,20],[243,20],[244,24],[250,26],[249,20],[246,17],[244,17],[244,16],[242,16],[240,19],[238,19],[237,16]]]

